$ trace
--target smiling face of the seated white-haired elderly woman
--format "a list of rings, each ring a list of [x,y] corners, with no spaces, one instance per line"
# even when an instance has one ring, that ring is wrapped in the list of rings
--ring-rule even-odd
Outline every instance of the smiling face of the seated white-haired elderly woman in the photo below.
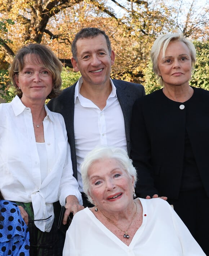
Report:
[[[104,212],[124,211],[133,200],[134,179],[113,158],[95,161],[88,169],[90,196]]]

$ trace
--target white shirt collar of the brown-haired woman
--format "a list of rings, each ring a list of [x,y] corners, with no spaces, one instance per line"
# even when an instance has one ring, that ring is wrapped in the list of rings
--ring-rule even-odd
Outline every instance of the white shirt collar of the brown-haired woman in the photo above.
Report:
[[[11,105],[12,105],[12,109],[14,111],[15,116],[20,115],[23,111],[25,110],[29,110],[31,111],[30,107],[26,107],[21,99],[16,95],[14,97],[14,99],[11,101]],[[54,122],[54,117],[52,115],[52,112],[48,109],[48,107],[46,106],[46,104],[44,104],[44,108],[46,111],[46,116],[49,117],[49,119]]]

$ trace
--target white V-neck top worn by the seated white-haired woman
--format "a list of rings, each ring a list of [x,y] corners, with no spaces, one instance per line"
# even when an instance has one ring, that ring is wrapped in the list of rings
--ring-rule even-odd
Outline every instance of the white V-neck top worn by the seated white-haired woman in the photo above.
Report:
[[[166,201],[140,201],[143,222],[129,246],[85,208],[75,214],[67,230],[63,256],[206,256]]]

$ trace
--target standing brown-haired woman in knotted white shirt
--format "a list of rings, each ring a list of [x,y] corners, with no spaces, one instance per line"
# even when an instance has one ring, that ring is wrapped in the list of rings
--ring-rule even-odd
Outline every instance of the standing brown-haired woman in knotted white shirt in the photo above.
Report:
[[[0,187],[5,199],[28,213],[31,256],[62,255],[61,206],[63,224],[83,208],[64,119],[45,105],[60,91],[61,71],[45,45],[23,46],[9,69],[17,95],[0,104]]]

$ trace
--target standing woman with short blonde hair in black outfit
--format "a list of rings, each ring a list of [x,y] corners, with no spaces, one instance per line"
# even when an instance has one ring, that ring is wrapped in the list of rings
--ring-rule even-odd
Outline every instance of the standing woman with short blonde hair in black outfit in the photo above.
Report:
[[[209,91],[190,86],[196,50],[181,33],[157,37],[151,59],[163,88],[133,106],[135,191],[142,198],[167,197],[209,255]]]

